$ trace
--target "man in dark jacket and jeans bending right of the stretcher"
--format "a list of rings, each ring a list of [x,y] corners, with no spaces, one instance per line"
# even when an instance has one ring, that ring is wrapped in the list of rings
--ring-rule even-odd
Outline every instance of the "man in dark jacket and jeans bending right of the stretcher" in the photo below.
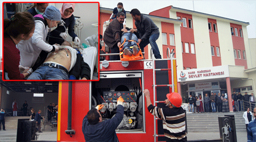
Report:
[[[130,31],[139,32],[138,44],[139,47],[141,47],[141,51],[144,52],[144,47],[146,47],[147,44],[150,44],[153,49],[155,59],[162,59],[158,49],[158,44],[156,44],[156,40],[159,37],[159,28],[155,25],[152,19],[141,14],[138,9],[131,10],[130,14],[135,20],[135,26],[137,27],[137,30],[132,28]],[[150,50],[148,49],[148,51]]]

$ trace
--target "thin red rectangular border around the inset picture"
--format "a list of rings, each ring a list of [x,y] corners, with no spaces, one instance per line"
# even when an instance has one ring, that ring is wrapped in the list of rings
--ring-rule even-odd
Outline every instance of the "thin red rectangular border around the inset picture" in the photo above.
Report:
[[[45,2],[3,2],[2,5],[2,25],[4,22],[3,19],[3,6],[5,5],[5,3],[45,3]],[[68,2],[48,2],[48,3],[68,3]],[[100,44],[100,2],[72,2],[72,3],[98,3],[98,43]],[[4,29],[3,29],[3,34],[4,34]],[[2,34],[2,41],[3,41],[3,34]],[[4,41],[3,41],[4,42]],[[2,42],[2,80],[3,81],[28,81],[28,80],[5,80],[4,76],[4,68],[3,68],[3,62],[4,62],[4,57],[3,57],[3,42]],[[100,51],[100,47],[98,46],[98,51]],[[100,52],[98,52],[98,68],[100,68]],[[100,69],[98,69],[98,76],[100,76]],[[100,78],[98,78],[98,80],[29,80],[29,81],[99,81]]]

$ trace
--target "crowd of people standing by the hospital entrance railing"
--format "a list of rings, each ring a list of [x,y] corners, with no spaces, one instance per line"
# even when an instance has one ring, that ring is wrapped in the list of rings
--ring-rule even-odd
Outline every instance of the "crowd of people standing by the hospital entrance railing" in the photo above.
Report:
[[[248,107],[254,108],[255,106],[255,96],[253,93],[251,95],[245,92],[245,95],[242,95],[240,92],[236,94],[234,91],[232,94],[232,106],[233,111],[246,111]],[[229,101],[228,94],[226,93],[211,93],[210,97],[208,94],[204,95],[202,98],[199,95],[199,98],[193,97],[191,94],[188,98],[189,112],[192,113],[201,113],[201,112],[229,112]]]

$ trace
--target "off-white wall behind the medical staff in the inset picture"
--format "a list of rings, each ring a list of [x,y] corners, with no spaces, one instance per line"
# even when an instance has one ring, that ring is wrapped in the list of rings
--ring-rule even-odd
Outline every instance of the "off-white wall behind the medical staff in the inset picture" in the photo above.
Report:
[[[54,4],[57,9],[60,9],[63,5],[63,3]],[[86,43],[85,39],[89,36],[98,36],[98,27],[92,26],[92,24],[98,23],[98,12],[98,3],[76,3],[73,15],[80,16],[80,21],[84,23],[80,36],[81,44]],[[68,36],[67,40],[72,41],[72,38]]]

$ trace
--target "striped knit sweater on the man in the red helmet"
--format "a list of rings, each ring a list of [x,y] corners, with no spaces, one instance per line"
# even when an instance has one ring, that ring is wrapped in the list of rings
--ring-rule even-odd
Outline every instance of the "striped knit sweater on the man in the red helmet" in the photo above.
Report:
[[[172,141],[187,141],[185,132],[185,110],[179,108],[159,108],[148,106],[148,111],[157,118],[163,120],[164,135]]]

